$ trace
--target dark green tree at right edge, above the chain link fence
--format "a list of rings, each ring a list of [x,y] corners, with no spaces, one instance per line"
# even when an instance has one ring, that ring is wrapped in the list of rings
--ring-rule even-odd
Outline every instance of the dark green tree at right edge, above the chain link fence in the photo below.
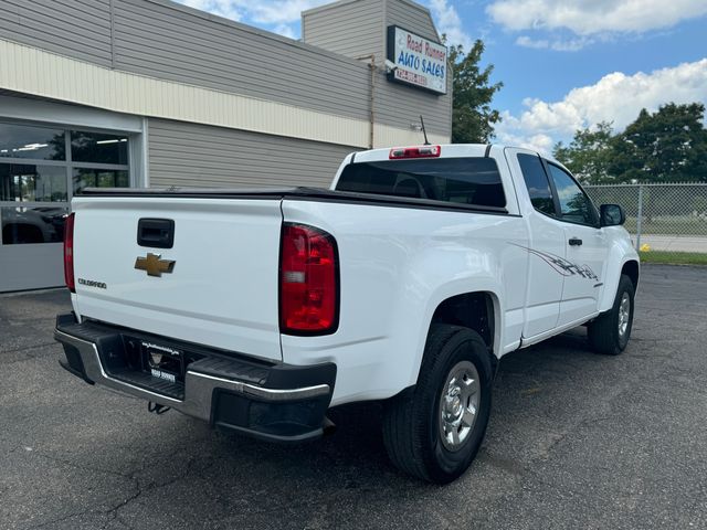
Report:
[[[707,182],[705,105],[668,103],[645,108],[616,136],[612,170],[623,181]]]

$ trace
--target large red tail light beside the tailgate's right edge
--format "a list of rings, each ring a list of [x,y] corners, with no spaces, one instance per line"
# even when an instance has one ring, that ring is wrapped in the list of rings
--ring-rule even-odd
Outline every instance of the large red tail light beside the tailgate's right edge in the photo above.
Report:
[[[336,241],[318,229],[285,224],[279,262],[279,330],[287,335],[328,335],[339,312]]]

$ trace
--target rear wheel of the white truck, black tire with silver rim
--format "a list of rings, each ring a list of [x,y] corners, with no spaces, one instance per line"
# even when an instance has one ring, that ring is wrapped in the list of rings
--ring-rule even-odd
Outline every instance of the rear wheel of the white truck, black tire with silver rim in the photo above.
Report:
[[[451,380],[453,375],[456,379]],[[435,484],[447,484],[462,475],[486,433],[492,380],[489,353],[476,331],[433,325],[418,383],[386,405],[383,443],[392,463]],[[458,427],[445,418],[456,418]]]

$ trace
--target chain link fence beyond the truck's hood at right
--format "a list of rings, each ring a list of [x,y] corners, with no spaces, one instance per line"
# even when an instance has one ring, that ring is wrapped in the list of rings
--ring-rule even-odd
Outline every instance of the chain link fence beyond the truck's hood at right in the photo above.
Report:
[[[707,183],[585,186],[599,208],[620,204],[643,253],[707,255]]]

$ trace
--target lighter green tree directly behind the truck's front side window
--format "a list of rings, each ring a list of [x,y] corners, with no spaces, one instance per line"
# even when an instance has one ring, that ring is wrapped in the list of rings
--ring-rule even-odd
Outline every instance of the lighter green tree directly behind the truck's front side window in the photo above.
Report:
[[[615,181],[611,172],[613,134],[609,121],[578,130],[569,146],[561,141],[556,144],[552,155],[583,182],[599,184]]]

